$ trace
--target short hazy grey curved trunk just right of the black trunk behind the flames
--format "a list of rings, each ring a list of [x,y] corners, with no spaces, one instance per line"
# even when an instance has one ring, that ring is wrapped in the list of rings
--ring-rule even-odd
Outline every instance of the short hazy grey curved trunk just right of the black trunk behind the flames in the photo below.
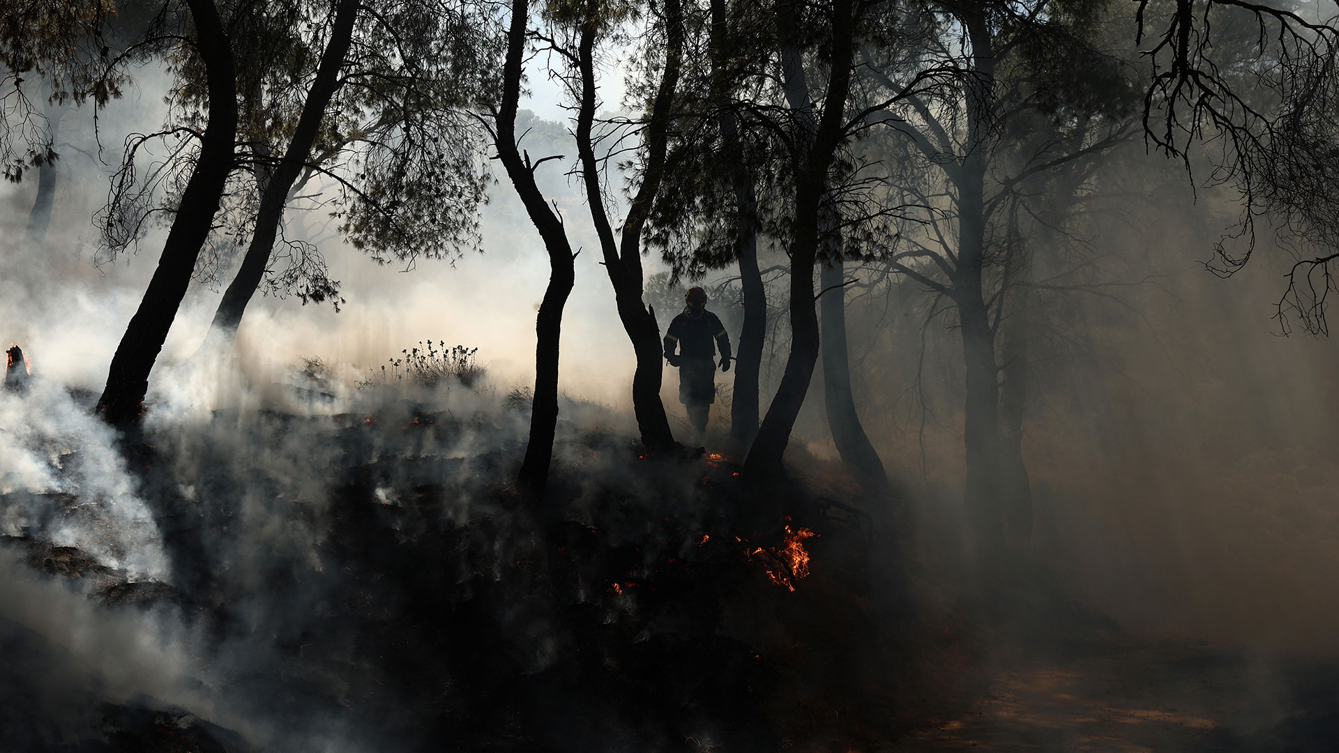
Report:
[[[840,230],[838,230],[840,232]],[[838,241],[840,243],[840,241]],[[850,391],[850,362],[846,347],[846,295],[844,264],[830,260],[821,264],[818,303],[822,308],[823,403],[828,427],[846,465],[861,481],[874,486],[888,484],[888,474],[878,453],[865,435]]]

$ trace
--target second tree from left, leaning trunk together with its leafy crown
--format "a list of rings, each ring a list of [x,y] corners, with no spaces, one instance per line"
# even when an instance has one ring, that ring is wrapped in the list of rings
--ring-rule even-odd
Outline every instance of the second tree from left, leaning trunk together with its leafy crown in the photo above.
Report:
[[[483,177],[474,151],[478,134],[465,107],[494,87],[495,35],[486,32],[475,9],[438,0],[400,0],[375,9],[337,3],[325,13],[332,21],[315,71],[281,66],[315,58],[311,54],[270,51],[248,59],[248,78],[256,83],[242,99],[254,102],[261,122],[244,141],[254,145],[250,159],[260,198],[250,244],[220,301],[209,347],[232,340],[266,276],[276,292],[296,292],[304,301],[339,300],[339,283],[325,276],[311,244],[284,241],[287,267],[276,259],[284,212],[300,188],[309,192],[308,204],[333,204],[339,230],[380,263],[478,247],[475,210]],[[277,48],[297,42],[284,32],[268,32],[279,38]],[[276,68],[280,76],[270,80]],[[295,91],[305,91],[305,100],[291,102]],[[292,135],[285,143],[287,134]],[[281,157],[276,161],[273,154]],[[313,184],[332,188],[312,189]],[[325,193],[333,197],[324,201]],[[250,221],[246,216],[234,224]]]

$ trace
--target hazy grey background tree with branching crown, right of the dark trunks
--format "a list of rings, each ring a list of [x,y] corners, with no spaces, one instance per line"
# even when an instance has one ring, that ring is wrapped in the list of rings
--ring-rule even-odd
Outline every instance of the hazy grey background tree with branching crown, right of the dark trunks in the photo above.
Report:
[[[898,166],[889,185],[904,196],[896,202],[929,208],[886,263],[956,312],[965,374],[967,509],[980,545],[996,551],[1007,531],[1026,540],[1030,529],[1027,473],[1018,443],[1003,441],[1000,421],[996,338],[1022,261],[1007,253],[1002,220],[1022,181],[1125,138],[1130,90],[1121,59],[1093,36],[1101,3],[944,4],[929,11],[943,36],[925,48],[921,64],[939,56],[939,66],[960,72],[947,96],[909,96],[881,121],[881,135],[905,149],[889,159]],[[888,75],[880,52],[865,55],[868,79],[886,91],[905,87],[898,78],[907,72]],[[1078,141],[1066,133],[1077,126],[1083,134]],[[1023,138],[1028,133],[1036,135]]]

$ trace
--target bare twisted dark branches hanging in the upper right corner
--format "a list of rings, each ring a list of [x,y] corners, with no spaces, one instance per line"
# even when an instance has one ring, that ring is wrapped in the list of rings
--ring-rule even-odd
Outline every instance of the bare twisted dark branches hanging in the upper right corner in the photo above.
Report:
[[[1277,303],[1284,334],[1293,323],[1328,332],[1339,234],[1339,16],[1306,17],[1304,5],[1247,0],[1174,0],[1170,12],[1138,7],[1149,67],[1144,129],[1152,145],[1190,170],[1208,143],[1216,182],[1241,196],[1237,232],[1221,238],[1209,269],[1231,276],[1256,248],[1256,218],[1271,214],[1296,261]],[[1247,31],[1248,40],[1239,39]]]

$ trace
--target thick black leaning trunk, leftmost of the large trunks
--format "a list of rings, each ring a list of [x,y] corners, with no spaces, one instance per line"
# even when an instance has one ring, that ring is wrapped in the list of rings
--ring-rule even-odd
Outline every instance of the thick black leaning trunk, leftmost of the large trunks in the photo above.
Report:
[[[112,425],[131,423],[149,391],[149,372],[181,307],[200,249],[213,226],[224,185],[233,169],[237,95],[233,54],[213,0],[186,0],[195,23],[195,50],[205,64],[208,118],[195,167],[181,194],[158,268],[130,319],[107,372],[98,413]]]

